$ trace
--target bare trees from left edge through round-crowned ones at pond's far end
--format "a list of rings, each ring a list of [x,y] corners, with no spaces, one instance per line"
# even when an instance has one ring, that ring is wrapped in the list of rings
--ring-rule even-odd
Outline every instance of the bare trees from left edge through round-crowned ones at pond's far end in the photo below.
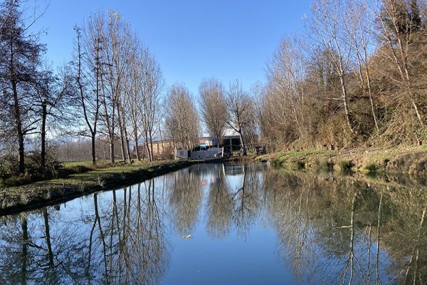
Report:
[[[100,157],[97,145],[105,142],[112,163],[119,156],[117,143],[121,160],[128,162],[134,155],[142,158],[141,145],[148,160],[154,160],[153,140],[191,149],[202,133],[199,110],[209,135],[221,138],[231,128],[246,153],[245,141],[255,134],[255,106],[240,83],[226,91],[216,79],[204,81],[199,110],[183,84],[164,95],[159,63],[115,11],[93,14],[75,26],[73,59],[54,71],[44,63],[46,46],[29,32],[33,22],[28,23],[20,5],[5,1],[0,14],[0,151],[12,160],[18,154],[16,172],[26,171],[29,157],[46,171],[47,157],[58,151],[48,147],[48,138],[52,144],[65,136],[79,142],[86,138],[94,164]],[[28,144],[35,140],[39,147],[31,153]],[[65,145],[69,148],[70,142]]]

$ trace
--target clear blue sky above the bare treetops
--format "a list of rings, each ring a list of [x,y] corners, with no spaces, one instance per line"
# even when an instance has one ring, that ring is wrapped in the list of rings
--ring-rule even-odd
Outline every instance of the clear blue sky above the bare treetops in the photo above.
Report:
[[[239,79],[247,89],[265,81],[265,63],[282,36],[302,28],[309,6],[309,0],[50,0],[36,28],[47,28],[41,41],[56,66],[70,60],[73,26],[113,9],[149,46],[167,86],[184,83],[196,95],[204,78],[226,87]]]

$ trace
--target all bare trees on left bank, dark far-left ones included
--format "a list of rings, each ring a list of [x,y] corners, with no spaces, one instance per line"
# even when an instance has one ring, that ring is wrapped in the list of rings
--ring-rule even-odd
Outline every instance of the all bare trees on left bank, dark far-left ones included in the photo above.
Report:
[[[97,140],[109,143],[112,163],[117,140],[122,160],[132,159],[133,140],[137,150],[145,142],[152,161],[164,81],[130,24],[114,11],[90,16],[75,26],[73,60],[53,71],[38,33],[29,32],[36,20],[28,22],[20,5],[4,1],[0,11],[0,152],[18,154],[16,172],[25,172],[30,156],[44,172],[46,140],[61,135],[90,138],[93,163]],[[40,143],[36,154],[26,150],[33,138]]]

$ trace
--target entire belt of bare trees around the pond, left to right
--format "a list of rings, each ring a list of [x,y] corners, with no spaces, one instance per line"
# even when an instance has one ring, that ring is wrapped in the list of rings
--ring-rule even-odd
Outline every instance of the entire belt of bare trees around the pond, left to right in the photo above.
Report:
[[[426,1],[314,0],[302,31],[285,36],[267,63],[265,84],[244,90],[208,78],[197,95],[184,83],[166,86],[154,53],[116,11],[76,24],[73,58],[49,66],[41,33],[30,33],[38,17],[30,21],[22,6],[0,7],[1,177],[46,172],[64,145],[79,145],[73,151],[94,164],[140,160],[139,146],[152,161],[155,140],[191,149],[202,134],[228,129],[243,154],[255,144],[426,140]]]

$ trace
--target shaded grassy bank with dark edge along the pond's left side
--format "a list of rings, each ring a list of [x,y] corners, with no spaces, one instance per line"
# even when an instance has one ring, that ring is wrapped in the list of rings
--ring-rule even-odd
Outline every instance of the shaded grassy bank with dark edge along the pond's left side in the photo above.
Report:
[[[142,182],[194,163],[192,161],[146,162],[139,165],[93,169],[89,168],[89,163],[66,163],[65,168],[81,169],[81,173],[71,174],[60,179],[0,189],[0,215],[65,202],[91,192]]]

